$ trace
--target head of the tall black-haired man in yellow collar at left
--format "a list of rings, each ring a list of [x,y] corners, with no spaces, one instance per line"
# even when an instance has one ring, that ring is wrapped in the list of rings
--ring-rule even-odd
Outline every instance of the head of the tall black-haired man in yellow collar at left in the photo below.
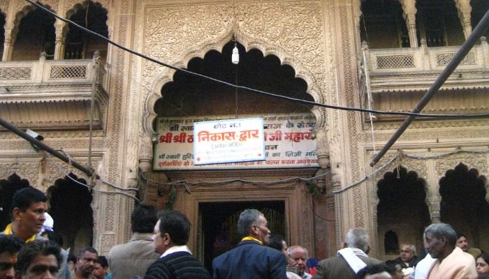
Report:
[[[44,213],[48,210],[47,202],[48,197],[33,187],[15,192],[10,204],[10,213],[13,231],[17,237],[25,241],[41,232],[45,221]]]

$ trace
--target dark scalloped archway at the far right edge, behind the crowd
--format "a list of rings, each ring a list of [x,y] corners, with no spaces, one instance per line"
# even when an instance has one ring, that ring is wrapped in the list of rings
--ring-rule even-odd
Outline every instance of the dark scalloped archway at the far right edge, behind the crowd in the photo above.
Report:
[[[440,220],[467,236],[469,247],[489,250],[486,177],[460,163],[439,180]]]

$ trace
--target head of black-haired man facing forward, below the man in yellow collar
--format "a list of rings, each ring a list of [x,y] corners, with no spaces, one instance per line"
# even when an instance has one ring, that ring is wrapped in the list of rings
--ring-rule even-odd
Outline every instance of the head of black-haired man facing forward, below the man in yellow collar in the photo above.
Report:
[[[17,256],[17,275],[22,279],[56,278],[61,265],[61,248],[54,241],[31,241]]]

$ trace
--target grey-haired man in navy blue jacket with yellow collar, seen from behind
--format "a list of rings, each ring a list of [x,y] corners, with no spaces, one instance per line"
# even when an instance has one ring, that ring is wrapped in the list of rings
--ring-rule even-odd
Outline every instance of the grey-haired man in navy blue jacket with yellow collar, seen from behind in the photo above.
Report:
[[[263,213],[247,209],[240,214],[238,233],[245,236],[238,246],[212,261],[214,279],[287,278],[284,254],[268,244],[270,230]]]

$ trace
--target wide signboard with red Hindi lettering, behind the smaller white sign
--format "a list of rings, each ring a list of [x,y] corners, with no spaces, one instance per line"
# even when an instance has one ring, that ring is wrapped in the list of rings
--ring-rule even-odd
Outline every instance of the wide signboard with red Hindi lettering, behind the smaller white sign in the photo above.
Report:
[[[159,117],[156,131],[159,140],[154,145],[154,170],[177,169],[265,169],[319,167],[316,156],[316,125],[313,114],[249,115],[263,119],[265,160],[237,163],[195,165],[194,123],[231,119],[233,116]],[[240,133],[235,134],[235,139]]]

